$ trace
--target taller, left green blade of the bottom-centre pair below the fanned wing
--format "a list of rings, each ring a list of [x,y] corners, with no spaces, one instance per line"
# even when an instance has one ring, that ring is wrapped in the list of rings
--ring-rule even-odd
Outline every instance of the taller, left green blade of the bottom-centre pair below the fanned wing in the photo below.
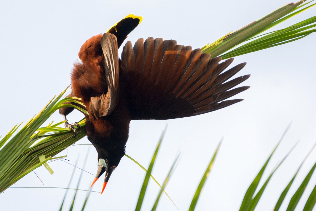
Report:
[[[157,147],[156,147],[156,150],[154,152],[154,155],[153,155],[153,157],[152,157],[152,159],[150,161],[150,164],[148,166],[148,170],[147,170],[147,173],[145,175],[144,182],[143,182],[142,188],[141,188],[140,193],[139,193],[139,197],[138,197],[138,201],[137,201],[137,204],[136,204],[135,211],[139,211],[141,209],[141,207],[142,207],[143,200],[144,200],[145,193],[146,193],[146,189],[147,189],[147,185],[148,185],[148,182],[149,182],[149,177],[150,177],[151,171],[153,170],[154,163],[155,163],[158,151],[159,151],[159,147],[160,147],[160,144],[162,142],[162,139],[163,139],[163,136],[164,136],[165,132],[166,132],[166,130],[164,130],[162,132],[161,138],[160,138],[160,140],[159,140],[159,142],[157,144]]]

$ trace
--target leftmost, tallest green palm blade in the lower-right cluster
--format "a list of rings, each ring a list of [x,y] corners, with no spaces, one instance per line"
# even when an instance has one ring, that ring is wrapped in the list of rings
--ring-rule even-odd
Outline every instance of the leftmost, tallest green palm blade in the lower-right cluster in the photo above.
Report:
[[[267,167],[272,155],[274,154],[274,152],[276,151],[276,148],[280,145],[281,141],[283,140],[286,132],[289,130],[290,125],[286,128],[285,132],[283,133],[281,139],[279,140],[279,142],[277,143],[276,147],[273,149],[273,151],[271,152],[269,158],[266,160],[266,162],[264,163],[264,165],[262,166],[262,168],[260,169],[259,173],[257,174],[257,176],[254,178],[254,180],[252,181],[252,183],[250,184],[249,188],[247,189],[245,196],[241,202],[240,205],[240,209],[239,211],[245,211],[248,210],[250,208],[251,202],[252,202],[252,196],[255,193],[258,184],[261,180],[261,177],[264,173],[265,168]]]

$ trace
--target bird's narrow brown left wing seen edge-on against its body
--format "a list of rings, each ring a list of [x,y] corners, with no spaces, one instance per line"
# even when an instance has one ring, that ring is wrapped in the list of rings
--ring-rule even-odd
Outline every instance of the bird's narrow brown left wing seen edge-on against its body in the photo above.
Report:
[[[119,99],[119,53],[116,36],[105,33],[101,37],[100,44],[108,89],[106,93],[90,99],[90,112],[96,118],[111,114]]]

